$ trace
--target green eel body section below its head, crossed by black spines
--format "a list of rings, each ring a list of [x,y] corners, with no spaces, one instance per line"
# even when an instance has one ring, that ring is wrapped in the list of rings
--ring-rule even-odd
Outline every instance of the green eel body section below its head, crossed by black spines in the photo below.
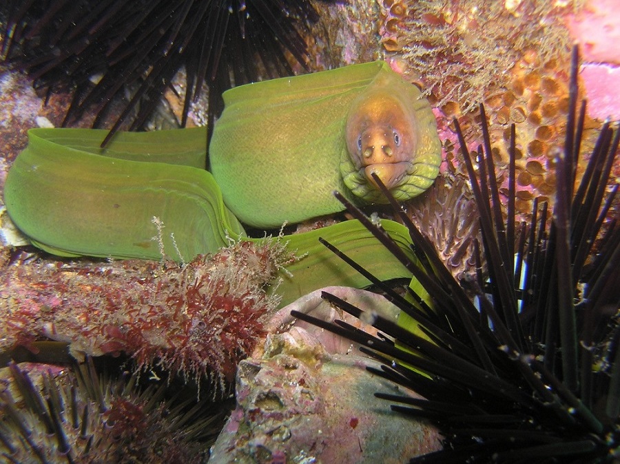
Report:
[[[411,238],[407,228],[388,220],[382,220],[381,225],[409,259],[417,262],[417,257],[411,250]],[[355,288],[370,285],[364,276],[322,245],[318,241],[319,237],[327,240],[382,281],[412,278],[411,272],[375,239],[360,221],[344,221],[282,238],[289,241],[289,250],[296,252],[298,256],[306,254],[300,261],[287,266],[292,276],[282,273],[282,283],[277,290],[282,294],[282,305],[326,285]],[[419,290],[417,280],[412,285],[416,285]]]

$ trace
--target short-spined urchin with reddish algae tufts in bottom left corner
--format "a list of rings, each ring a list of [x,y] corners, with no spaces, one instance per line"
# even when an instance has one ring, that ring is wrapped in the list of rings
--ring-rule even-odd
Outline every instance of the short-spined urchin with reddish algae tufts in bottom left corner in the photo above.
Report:
[[[5,369],[0,453],[7,463],[200,463],[223,421],[204,401],[164,400],[165,381],[140,389],[136,375],[98,374],[90,359],[74,373]]]

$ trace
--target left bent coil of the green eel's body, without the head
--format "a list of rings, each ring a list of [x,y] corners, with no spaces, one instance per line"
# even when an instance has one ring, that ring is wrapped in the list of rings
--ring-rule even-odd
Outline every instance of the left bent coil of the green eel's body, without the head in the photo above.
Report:
[[[116,134],[101,150],[105,131],[30,130],[6,180],[7,210],[35,245],[60,256],[161,259],[160,241],[169,259],[216,252],[245,233],[213,176],[196,169],[201,132]]]

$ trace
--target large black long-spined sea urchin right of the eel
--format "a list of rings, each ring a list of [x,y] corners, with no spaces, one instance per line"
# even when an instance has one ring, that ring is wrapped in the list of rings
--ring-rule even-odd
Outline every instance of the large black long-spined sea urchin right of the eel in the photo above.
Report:
[[[480,274],[472,282],[477,307],[410,224],[422,265],[408,266],[429,296],[413,295],[411,304],[391,295],[406,314],[398,325],[329,294],[324,297],[370,319],[384,335],[293,314],[361,343],[363,352],[384,362],[371,372],[424,396],[378,394],[400,403],[393,410],[427,418],[442,430],[444,450],[412,463],[614,463],[620,456],[617,219],[592,248],[618,190],[615,185],[605,198],[620,132],[603,126],[575,183],[583,131],[583,119],[577,117],[576,49],[571,74],[566,141],[555,149],[552,225],[547,227],[546,205],[535,202],[535,220],[521,225],[528,239],[517,246],[514,176],[504,223],[484,112],[479,176],[456,123],[480,212],[483,241],[475,242],[475,256],[482,250],[488,263],[488,283]],[[513,164],[514,148],[510,154]],[[384,237],[371,223],[369,228]],[[389,240],[385,244],[393,248]],[[423,336],[409,330],[407,316],[419,323]]]

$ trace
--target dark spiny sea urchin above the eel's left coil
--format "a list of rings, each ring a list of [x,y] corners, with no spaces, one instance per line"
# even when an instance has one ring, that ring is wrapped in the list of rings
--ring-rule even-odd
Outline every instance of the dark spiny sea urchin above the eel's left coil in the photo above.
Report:
[[[185,125],[189,104],[209,92],[209,114],[223,108],[231,85],[292,74],[307,67],[304,32],[318,14],[309,1],[4,1],[0,57],[28,72],[42,92],[70,90],[63,124],[94,108],[103,124],[112,105],[132,95],[112,117],[141,128],[180,68],[185,68]]]

